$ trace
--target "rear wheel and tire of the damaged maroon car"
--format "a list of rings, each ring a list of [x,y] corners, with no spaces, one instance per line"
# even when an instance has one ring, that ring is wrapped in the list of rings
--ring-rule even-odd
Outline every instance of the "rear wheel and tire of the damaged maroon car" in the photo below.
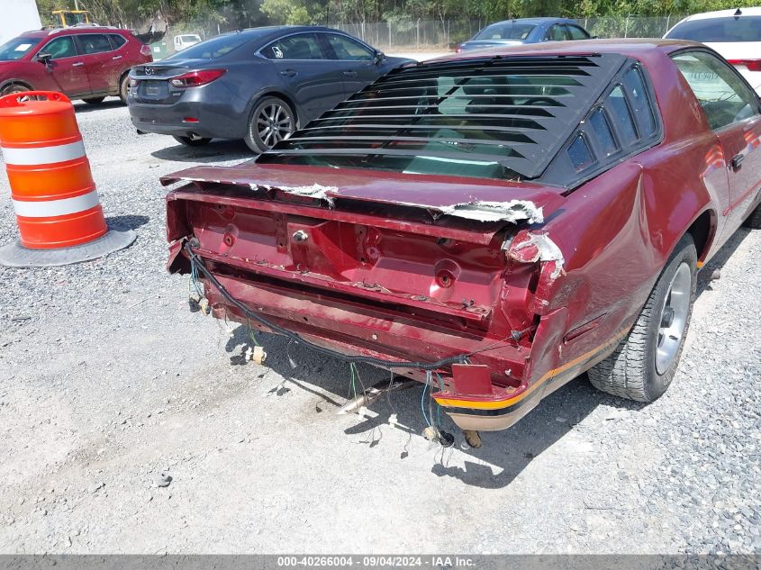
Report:
[[[629,335],[611,356],[587,371],[595,388],[646,403],[666,392],[690,328],[697,284],[695,267],[695,245],[692,236],[685,235],[658,276]],[[682,294],[677,294],[679,291]]]

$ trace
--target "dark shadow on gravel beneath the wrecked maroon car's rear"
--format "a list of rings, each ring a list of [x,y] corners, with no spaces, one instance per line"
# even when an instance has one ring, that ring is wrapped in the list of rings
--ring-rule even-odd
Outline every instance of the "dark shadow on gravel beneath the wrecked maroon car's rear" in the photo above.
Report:
[[[349,365],[340,358],[315,356],[302,346],[291,343],[283,337],[272,334],[257,334],[258,342],[267,351],[265,366],[271,368],[285,380],[275,386],[271,393],[274,396],[287,394],[291,389],[300,389],[314,394],[315,413],[335,414],[346,402],[351,393]],[[246,327],[240,326],[233,331],[225,349],[231,356],[231,364],[243,364],[243,352],[248,342]],[[295,368],[291,363],[295,364]],[[389,380],[389,373],[373,366],[358,366],[359,384],[370,387],[377,382]],[[319,386],[321,391],[315,390]],[[322,391],[329,393],[322,394]],[[361,443],[369,448],[384,445],[383,433],[393,430],[387,422],[392,413],[397,415],[397,421],[406,427],[410,438],[421,438],[422,430],[426,427],[421,411],[422,385],[403,392],[394,392],[389,397],[382,397],[371,406],[375,418],[356,416],[354,426],[345,430],[349,436],[365,434]],[[552,446],[573,429],[576,423],[582,421],[594,408],[605,399],[604,394],[598,393],[584,379],[576,378],[568,385],[550,394],[539,406],[531,411],[510,430],[482,433],[484,445],[482,448],[461,448],[464,439],[457,426],[449,420],[442,410],[439,413],[440,427],[455,436],[455,446],[473,457],[465,461],[465,466],[450,465],[451,448],[439,448],[436,460],[431,466],[431,473],[439,477],[454,477],[463,484],[496,489],[504,487],[521,473],[530,462],[547,448]],[[610,400],[618,399],[610,397]],[[428,410],[427,399],[423,401]],[[433,415],[437,415],[433,406]],[[407,446],[400,448],[400,460],[408,457]]]

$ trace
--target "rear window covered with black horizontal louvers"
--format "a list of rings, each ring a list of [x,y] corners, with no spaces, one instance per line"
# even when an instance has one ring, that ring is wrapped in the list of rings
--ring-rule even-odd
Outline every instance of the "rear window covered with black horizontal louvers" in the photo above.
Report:
[[[535,178],[625,60],[515,56],[398,68],[258,161]]]

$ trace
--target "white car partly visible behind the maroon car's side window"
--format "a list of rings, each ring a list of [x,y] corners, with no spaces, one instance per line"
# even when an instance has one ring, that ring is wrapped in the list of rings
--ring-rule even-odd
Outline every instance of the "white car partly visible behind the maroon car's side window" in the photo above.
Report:
[[[664,38],[701,41],[735,66],[761,95],[761,7],[693,14]]]

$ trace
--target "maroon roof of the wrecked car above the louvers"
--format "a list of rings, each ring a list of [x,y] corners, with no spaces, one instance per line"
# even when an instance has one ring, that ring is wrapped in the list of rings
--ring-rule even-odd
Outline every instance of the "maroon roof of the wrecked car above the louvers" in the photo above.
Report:
[[[548,43],[531,43],[518,46],[494,46],[473,52],[452,53],[427,61],[445,61],[448,59],[484,58],[487,56],[530,56],[530,55],[592,55],[597,53],[618,53],[634,59],[654,51],[670,53],[690,46],[702,46],[702,43],[684,40],[660,40],[656,38],[612,39],[612,40],[575,40],[550,41]],[[702,46],[704,47],[704,46]],[[472,54],[472,55],[471,55]]]

